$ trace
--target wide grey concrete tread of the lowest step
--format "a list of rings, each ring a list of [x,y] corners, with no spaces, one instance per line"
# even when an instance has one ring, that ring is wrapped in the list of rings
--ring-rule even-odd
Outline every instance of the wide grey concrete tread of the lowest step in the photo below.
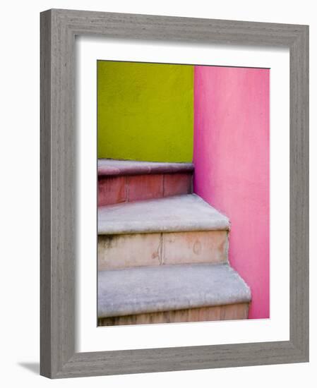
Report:
[[[100,318],[249,301],[249,286],[227,264],[160,265],[98,272]]]

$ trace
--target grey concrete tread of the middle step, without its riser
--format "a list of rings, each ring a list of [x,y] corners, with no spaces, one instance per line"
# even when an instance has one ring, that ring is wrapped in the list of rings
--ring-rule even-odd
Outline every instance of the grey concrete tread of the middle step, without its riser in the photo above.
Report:
[[[229,219],[195,194],[98,207],[98,234],[229,230]]]

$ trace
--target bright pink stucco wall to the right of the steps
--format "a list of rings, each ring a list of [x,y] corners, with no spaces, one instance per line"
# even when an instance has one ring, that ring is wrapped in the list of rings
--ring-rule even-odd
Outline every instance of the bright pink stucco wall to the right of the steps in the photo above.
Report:
[[[249,284],[249,318],[270,316],[267,69],[196,66],[194,192],[231,222],[229,261]]]

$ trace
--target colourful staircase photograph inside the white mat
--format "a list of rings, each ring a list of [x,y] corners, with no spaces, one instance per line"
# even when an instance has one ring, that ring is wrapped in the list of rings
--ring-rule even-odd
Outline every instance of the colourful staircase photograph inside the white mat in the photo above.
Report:
[[[270,68],[97,60],[97,326],[270,318]]]

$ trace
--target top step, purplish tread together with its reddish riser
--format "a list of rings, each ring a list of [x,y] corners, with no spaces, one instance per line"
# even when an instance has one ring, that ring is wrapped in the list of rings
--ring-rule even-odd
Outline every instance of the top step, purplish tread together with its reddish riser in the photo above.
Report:
[[[98,159],[98,206],[192,193],[193,164]]]

